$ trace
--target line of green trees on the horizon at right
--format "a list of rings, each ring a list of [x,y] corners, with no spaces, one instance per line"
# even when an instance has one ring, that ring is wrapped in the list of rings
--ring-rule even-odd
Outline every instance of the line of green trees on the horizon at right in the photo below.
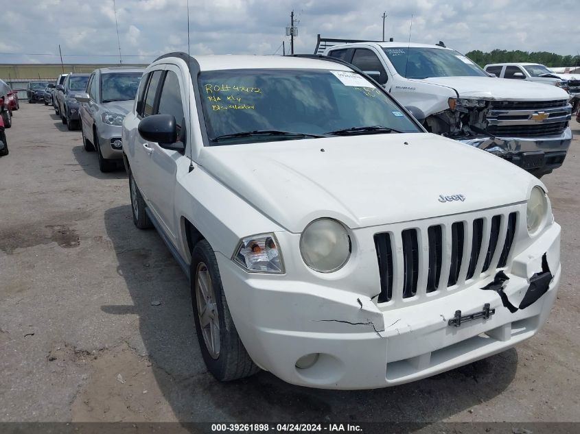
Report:
[[[561,56],[548,51],[493,50],[484,53],[480,50],[469,51],[465,56],[476,62],[480,67],[490,63],[529,62],[546,65],[546,67],[580,66],[580,56]]]

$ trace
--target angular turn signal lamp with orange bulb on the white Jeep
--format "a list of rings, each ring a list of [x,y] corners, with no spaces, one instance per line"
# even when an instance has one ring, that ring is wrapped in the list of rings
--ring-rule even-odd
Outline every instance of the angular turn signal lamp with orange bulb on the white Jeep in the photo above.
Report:
[[[233,261],[253,273],[282,274],[282,255],[274,234],[259,234],[240,241]]]

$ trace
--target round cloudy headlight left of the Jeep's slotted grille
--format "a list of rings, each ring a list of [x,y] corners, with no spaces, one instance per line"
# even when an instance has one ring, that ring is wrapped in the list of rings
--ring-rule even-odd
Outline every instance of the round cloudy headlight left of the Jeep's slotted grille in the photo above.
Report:
[[[300,254],[316,272],[331,273],[344,267],[351,254],[347,228],[334,219],[318,219],[300,237]]]

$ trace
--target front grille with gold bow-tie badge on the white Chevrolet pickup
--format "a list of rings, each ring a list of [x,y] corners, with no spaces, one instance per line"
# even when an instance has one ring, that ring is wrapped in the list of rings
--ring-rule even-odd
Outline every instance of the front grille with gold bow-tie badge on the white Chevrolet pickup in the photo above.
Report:
[[[562,134],[572,118],[566,99],[557,101],[492,101],[486,131],[499,137],[542,137]]]

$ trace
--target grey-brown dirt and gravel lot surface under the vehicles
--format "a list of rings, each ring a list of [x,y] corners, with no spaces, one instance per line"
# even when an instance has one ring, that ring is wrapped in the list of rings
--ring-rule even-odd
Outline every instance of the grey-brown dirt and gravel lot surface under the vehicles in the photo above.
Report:
[[[579,123],[572,129],[580,135]],[[563,276],[541,333],[416,383],[325,391],[268,372],[215,381],[188,282],[158,234],[133,226],[124,170],[100,173],[80,132],[50,106],[21,104],[7,135],[0,421],[580,422],[577,139],[543,179],[563,229]],[[489,186],[509,188],[494,186],[493,174]]]

